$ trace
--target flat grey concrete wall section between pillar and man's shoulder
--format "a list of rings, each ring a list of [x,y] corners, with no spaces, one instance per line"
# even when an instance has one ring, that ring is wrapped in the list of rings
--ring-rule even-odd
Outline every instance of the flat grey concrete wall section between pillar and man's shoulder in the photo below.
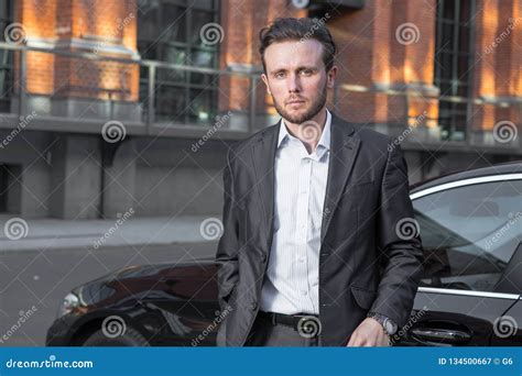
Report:
[[[145,217],[219,213],[227,146],[208,141],[194,153],[193,142],[124,141],[107,166],[105,215],[116,217],[130,208]]]

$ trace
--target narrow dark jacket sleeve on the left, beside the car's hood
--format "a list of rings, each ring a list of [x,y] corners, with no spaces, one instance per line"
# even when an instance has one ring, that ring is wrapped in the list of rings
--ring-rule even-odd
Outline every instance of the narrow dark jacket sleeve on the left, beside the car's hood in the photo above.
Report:
[[[227,155],[227,166],[224,170],[224,233],[219,240],[216,253],[216,262],[218,264],[218,300],[221,311],[226,309],[228,298],[230,297],[239,279],[239,221],[237,218],[237,203],[235,199],[236,195],[233,191],[233,174],[230,166],[229,151]]]

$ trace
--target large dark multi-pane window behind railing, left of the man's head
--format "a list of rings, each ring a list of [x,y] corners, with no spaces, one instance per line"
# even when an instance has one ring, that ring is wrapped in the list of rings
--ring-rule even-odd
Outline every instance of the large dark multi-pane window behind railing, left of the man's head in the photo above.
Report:
[[[219,43],[205,44],[202,27],[219,22],[219,0],[138,1],[138,51],[143,59],[217,68]],[[148,71],[141,71],[146,98]],[[157,68],[155,119],[160,122],[208,123],[217,111],[218,76]],[[146,100],[142,100],[146,102]]]

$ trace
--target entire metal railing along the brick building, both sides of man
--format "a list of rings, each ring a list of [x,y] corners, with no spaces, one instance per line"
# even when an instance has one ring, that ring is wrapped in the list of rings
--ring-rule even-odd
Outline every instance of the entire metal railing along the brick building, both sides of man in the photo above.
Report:
[[[244,134],[251,133],[255,131],[259,128],[262,128],[264,124],[272,123],[273,117],[269,114],[269,107],[265,103],[264,100],[264,87],[263,85],[260,85],[260,76],[259,71],[238,71],[238,70],[220,70],[220,69],[213,69],[213,68],[203,68],[203,67],[196,67],[196,66],[186,66],[186,65],[177,65],[177,64],[171,64],[171,63],[165,63],[165,62],[156,62],[156,60],[146,60],[146,59],[132,59],[132,58],[118,58],[118,57],[110,57],[110,56],[100,56],[96,53],[89,53],[89,52],[70,52],[70,51],[62,51],[57,48],[41,48],[41,47],[30,47],[26,45],[14,45],[10,43],[0,43],[0,53],[7,54],[18,54],[17,56],[12,56],[12,62],[14,62],[14,65],[12,66],[12,71],[11,71],[11,78],[13,82],[11,82],[11,87],[9,88],[10,95],[12,95],[12,98],[14,98],[18,101],[18,106],[11,106],[11,113],[15,112],[18,115],[23,117],[26,115],[28,112],[30,111],[29,108],[29,99],[35,98],[35,97],[47,97],[47,98],[53,98],[53,97],[59,97],[59,90],[56,90],[54,88],[53,93],[47,93],[46,96],[41,96],[41,95],[35,95],[34,92],[30,92],[28,90],[28,56],[29,54],[35,54],[35,53],[42,53],[42,54],[51,54],[54,57],[63,57],[65,59],[79,59],[83,62],[83,64],[87,64],[88,67],[86,69],[81,69],[80,71],[76,71],[75,74],[85,74],[89,71],[89,68],[96,69],[97,64],[119,64],[121,66],[130,67],[127,69],[128,71],[131,71],[132,69],[138,69],[138,77],[131,78],[132,80],[137,80],[134,82],[138,86],[138,90],[135,90],[135,96],[137,98],[132,100],[117,100],[115,98],[118,97],[129,97],[129,92],[132,90],[129,90],[128,87],[123,86],[112,86],[112,87],[93,87],[93,88],[87,88],[90,89],[90,91],[97,91],[104,92],[106,95],[106,99],[99,99],[96,98],[97,96],[94,95],[95,98],[84,98],[87,100],[87,103],[85,106],[89,107],[94,102],[101,102],[101,103],[108,103],[109,110],[106,113],[106,117],[98,117],[96,119],[90,119],[88,115],[81,118],[81,117],[62,117],[62,118],[67,118],[66,120],[68,121],[68,125],[65,125],[65,130],[68,131],[75,131],[75,128],[77,125],[74,124],[74,121],[76,122],[81,122],[86,121],[87,124],[85,126],[79,126],[77,128],[76,131],[81,131],[81,132],[91,132],[96,133],[99,132],[100,128],[100,119],[101,120],[113,120],[115,118],[119,118],[121,113],[126,113],[127,109],[132,109],[132,106],[139,109],[139,117],[138,119],[131,119],[126,121],[126,124],[133,125],[129,126],[129,132],[130,133],[135,133],[135,134],[164,134],[164,135],[194,135],[194,134],[200,134],[202,132],[205,132],[208,130],[208,126],[202,126],[202,124],[193,124],[189,122],[180,122],[174,120],[167,120],[164,121],[164,119],[159,119],[157,117],[157,103],[159,103],[159,90],[162,88],[162,85],[165,85],[162,80],[157,79],[159,71],[161,69],[167,70],[168,73],[175,75],[183,75],[183,74],[197,74],[197,75],[206,75],[209,77],[214,77],[215,79],[219,80],[218,82],[213,82],[209,85],[209,89],[215,89],[218,92],[216,103],[210,104],[210,106],[216,106],[217,111],[220,113],[225,113],[230,111],[231,113],[235,114],[236,119],[236,125],[241,124],[241,126],[232,126],[233,124],[229,123],[228,126],[225,126],[220,131],[225,132],[230,132],[231,134],[236,134],[237,137],[244,136]],[[0,67],[1,68],[1,67]],[[31,69],[35,69],[33,66]],[[54,69],[54,67],[46,68],[45,71],[51,71]],[[142,75],[143,70],[145,71],[144,75]],[[13,74],[14,73],[14,74]],[[53,74],[55,74],[53,71]],[[34,76],[34,71],[32,71],[32,75]],[[142,76],[142,77],[139,77]],[[143,77],[145,76],[145,77]],[[0,76],[1,77],[1,76]],[[225,82],[225,85],[221,85],[221,80],[224,78],[229,79],[229,82]],[[67,77],[67,80],[74,80],[74,77]],[[243,81],[248,81],[247,85],[244,85]],[[233,81],[233,82],[232,82]],[[141,88],[140,88],[140,82],[144,84],[144,93],[141,95]],[[170,85],[170,84],[168,84]],[[183,87],[183,82],[176,84],[180,87]],[[0,87],[0,89],[3,89]],[[70,89],[70,88],[69,88]],[[78,91],[81,91],[81,87],[75,87],[73,89],[76,89]],[[259,90],[259,92],[258,92]],[[74,91],[74,90],[73,90]],[[3,93],[3,92],[2,92]],[[262,95],[261,95],[262,93]],[[400,133],[401,130],[404,130],[405,128],[409,128],[409,124],[411,124],[412,121],[415,121],[415,118],[418,114],[412,114],[412,111],[414,110],[414,107],[418,107],[418,103],[421,103],[421,107],[426,104],[427,101],[447,101],[447,102],[454,102],[454,103],[471,103],[475,106],[493,106],[494,108],[505,108],[507,106],[515,106],[518,110],[520,111],[519,113],[519,119],[522,119],[522,103],[504,103],[502,101],[498,102],[488,102],[483,99],[470,99],[470,98],[460,98],[460,97],[448,97],[448,96],[437,96],[432,93],[426,95],[425,92],[420,92],[415,89],[411,89],[407,87],[399,88],[399,89],[393,89],[393,88],[387,88],[387,87],[365,87],[365,86],[357,86],[357,85],[347,85],[347,84],[340,84],[337,85],[334,89],[334,109],[337,110],[340,104],[346,106],[346,97],[350,96],[357,96],[357,93],[371,93],[371,95],[385,95],[387,98],[399,98],[403,100],[402,103],[402,115],[399,114],[400,120],[396,121],[396,115],[394,125],[391,124],[393,122],[390,122],[389,125],[385,125],[385,132],[388,132],[391,135],[395,135],[395,133]],[[140,97],[141,96],[141,97]],[[0,98],[2,96],[0,95]],[[72,96],[74,97],[74,96]],[[99,97],[99,95],[98,95]],[[424,104],[422,103],[424,101]],[[89,104],[90,102],[90,104]],[[238,102],[242,104],[238,106]],[[131,106],[124,107],[124,106]],[[175,103],[174,103],[175,104]],[[173,104],[173,106],[174,106]],[[189,107],[189,103],[185,103],[187,107]],[[122,107],[123,106],[123,107]],[[433,104],[432,104],[433,106]],[[436,104],[438,106],[438,104]],[[357,111],[357,108],[354,109],[348,109],[349,111]],[[177,110],[176,110],[177,111]],[[174,111],[174,112],[176,112]],[[273,111],[272,111],[273,113]],[[48,117],[55,119],[56,114],[51,111],[48,113]],[[42,117],[45,118],[45,114]],[[233,117],[232,117],[233,118]],[[207,119],[208,121],[205,121],[204,124],[206,125],[213,125],[213,121]],[[350,120],[350,119],[348,119]],[[433,129],[442,129],[442,124],[438,124],[439,119],[432,119],[428,115],[426,119],[423,120],[423,122],[418,126],[418,131],[426,131],[427,126],[425,125],[425,121],[429,121],[435,123],[435,126],[432,126],[429,131]],[[420,141],[423,141],[426,145],[428,145],[431,142],[433,143],[453,143],[455,145],[474,145],[476,144],[476,141],[474,141],[474,134],[478,134],[481,131],[477,130],[474,128],[472,124],[472,118],[469,118],[466,120],[466,123],[463,124],[463,130],[465,132],[465,140],[461,142],[459,141],[452,141],[452,140],[444,140],[443,137],[438,136],[428,136],[423,140],[417,139]],[[89,123],[94,124],[93,126],[89,128]],[[45,126],[50,126],[48,123]],[[518,124],[520,129],[520,124]],[[157,131],[157,129],[161,129],[161,132]],[[172,132],[164,132],[165,129],[171,130]],[[194,131],[191,133],[191,130]],[[521,132],[522,133],[522,132]],[[232,136],[233,137],[233,136]],[[519,136],[519,140],[521,137]],[[407,144],[407,142],[406,142]],[[490,145],[491,146],[491,145]],[[510,145],[497,145],[499,148],[509,148]],[[511,145],[513,146],[513,145]],[[518,145],[514,145],[518,146]]]

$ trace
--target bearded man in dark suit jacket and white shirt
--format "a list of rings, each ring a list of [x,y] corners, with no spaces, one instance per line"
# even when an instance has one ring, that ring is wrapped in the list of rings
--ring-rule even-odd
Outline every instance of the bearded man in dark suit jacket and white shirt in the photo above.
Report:
[[[282,120],[227,156],[218,345],[387,345],[422,270],[402,152],[327,110],[324,25],[279,19],[260,40]]]

